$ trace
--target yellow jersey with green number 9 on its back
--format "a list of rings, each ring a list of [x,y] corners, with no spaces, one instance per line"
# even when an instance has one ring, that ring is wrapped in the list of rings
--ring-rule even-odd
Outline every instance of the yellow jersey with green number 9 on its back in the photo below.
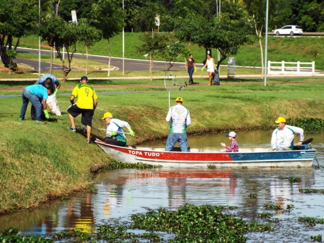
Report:
[[[96,91],[87,83],[76,86],[72,96],[78,97],[77,106],[81,109],[93,109],[93,101],[98,99]]]

